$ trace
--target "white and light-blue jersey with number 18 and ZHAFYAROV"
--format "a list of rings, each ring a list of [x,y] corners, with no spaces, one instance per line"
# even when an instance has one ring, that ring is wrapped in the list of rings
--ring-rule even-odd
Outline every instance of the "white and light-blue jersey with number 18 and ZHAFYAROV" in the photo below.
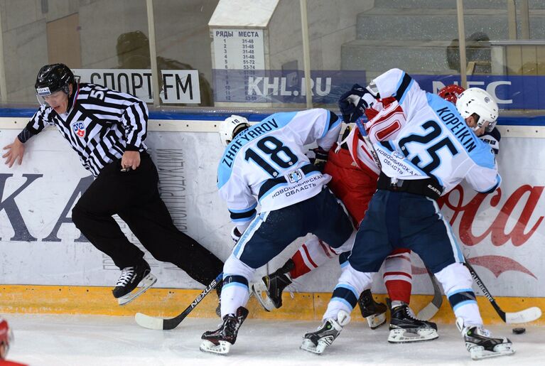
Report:
[[[235,224],[252,220],[258,202],[266,212],[320,193],[331,177],[311,164],[304,146],[316,141],[328,151],[338,140],[340,123],[326,109],[281,112],[237,135],[217,169],[217,188]]]

